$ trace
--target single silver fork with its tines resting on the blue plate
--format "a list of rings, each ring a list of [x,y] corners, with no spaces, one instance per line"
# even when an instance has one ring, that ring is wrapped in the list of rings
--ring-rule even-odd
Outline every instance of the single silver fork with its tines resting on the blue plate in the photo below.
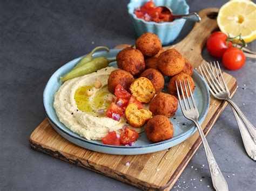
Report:
[[[206,155],[206,158],[207,158],[208,166],[210,168],[213,187],[215,188],[215,190],[221,190],[221,191],[228,190],[227,182],[226,182],[223,174],[220,172],[219,166],[217,165],[217,162],[213,157],[212,151],[211,151],[211,149],[210,149],[210,147],[207,143],[204,132],[201,129],[201,126],[198,122],[199,113],[198,113],[196,102],[194,101],[193,94],[191,92],[190,84],[187,80],[187,86],[188,86],[188,89],[190,90],[191,99],[189,98],[188,93],[187,93],[185,80],[183,80],[183,83],[184,83],[187,98],[185,98],[185,96],[184,96],[183,88],[182,88],[181,82],[179,80],[180,90],[181,90],[181,94],[183,96],[183,103],[184,104],[181,101],[179,88],[178,88],[178,84],[177,84],[177,81],[176,81],[176,88],[177,88],[177,93],[178,93],[178,98],[179,98],[179,104],[180,104],[181,111],[183,112],[183,115],[187,119],[190,119],[197,126],[197,129],[199,131],[199,135],[202,139],[202,142],[203,142],[203,145],[204,145],[204,148],[205,148],[205,155]]]

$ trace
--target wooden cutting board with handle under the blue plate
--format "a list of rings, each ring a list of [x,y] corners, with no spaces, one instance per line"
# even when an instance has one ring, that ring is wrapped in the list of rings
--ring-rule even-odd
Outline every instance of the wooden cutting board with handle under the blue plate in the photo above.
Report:
[[[188,36],[180,43],[165,47],[176,48],[196,68],[203,62],[201,50],[210,33],[217,29],[215,16],[218,9],[204,9],[199,12],[201,22],[197,23]],[[170,34],[171,35],[171,34]],[[118,47],[127,47],[120,45]],[[237,82],[231,75],[223,73],[231,96],[237,89]],[[226,102],[211,97],[208,114],[201,125],[205,135],[211,130]],[[82,166],[91,171],[110,176],[141,189],[169,190],[179,178],[181,172],[201,144],[198,132],[183,143],[169,150],[143,155],[111,155],[86,150],[70,143],[53,130],[45,119],[30,136],[30,144],[35,150],[52,155],[61,160]],[[126,162],[130,166],[125,166]],[[158,170],[157,170],[158,169]]]

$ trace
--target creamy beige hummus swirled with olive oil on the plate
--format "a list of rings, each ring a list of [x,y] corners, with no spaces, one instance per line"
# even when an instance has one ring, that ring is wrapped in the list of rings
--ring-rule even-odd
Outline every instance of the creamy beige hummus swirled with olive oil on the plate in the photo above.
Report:
[[[115,69],[117,68],[106,67],[64,82],[56,92],[53,102],[59,121],[88,140],[101,140],[109,131],[121,133],[123,126],[129,126],[124,116],[118,122],[98,112],[102,109],[105,112],[110,105],[105,102],[106,98],[114,96],[107,90],[107,79]],[[96,80],[102,83],[99,89],[93,87]],[[88,89],[92,91],[91,96],[84,94]],[[137,132],[144,131],[144,128],[129,128]]]

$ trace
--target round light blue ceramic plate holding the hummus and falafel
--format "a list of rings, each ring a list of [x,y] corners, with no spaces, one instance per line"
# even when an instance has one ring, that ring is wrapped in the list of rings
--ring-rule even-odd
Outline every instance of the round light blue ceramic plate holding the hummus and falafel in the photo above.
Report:
[[[111,49],[110,52],[97,52],[93,56],[94,57],[105,56],[106,58],[112,59],[116,57],[119,51],[120,49]],[[177,145],[183,142],[188,137],[193,135],[193,133],[196,131],[196,127],[194,126],[194,124],[191,121],[188,121],[183,116],[179,108],[175,116],[170,118],[174,126],[173,138],[169,140],[165,140],[164,142],[160,142],[160,143],[150,142],[147,139],[145,132],[140,133],[139,139],[132,147],[104,145],[100,141],[87,140],[83,137],[80,137],[79,135],[72,132],[71,130],[66,128],[65,125],[59,122],[55,109],[53,108],[54,95],[56,91],[59,89],[59,87],[62,85],[62,82],[60,82],[59,80],[59,76],[63,76],[64,74],[69,72],[69,70],[72,69],[80,59],[81,57],[74,59],[66,63],[64,66],[60,67],[50,77],[50,80],[48,81],[44,89],[43,100],[44,100],[46,115],[52,127],[65,139],[68,139],[70,142],[92,151],[109,153],[109,154],[132,155],[132,154],[152,153],[156,151],[165,150],[167,148],[170,148],[174,145]],[[116,62],[112,62],[110,66],[117,67]],[[196,88],[194,89],[193,95],[199,110],[199,122],[202,123],[207,114],[207,110],[210,103],[210,95],[208,94],[208,89],[205,81],[200,77],[200,75],[196,71],[194,71],[192,77],[194,79],[194,83],[196,86]],[[166,87],[167,87],[167,79],[166,79]],[[166,91],[166,89],[164,91]]]

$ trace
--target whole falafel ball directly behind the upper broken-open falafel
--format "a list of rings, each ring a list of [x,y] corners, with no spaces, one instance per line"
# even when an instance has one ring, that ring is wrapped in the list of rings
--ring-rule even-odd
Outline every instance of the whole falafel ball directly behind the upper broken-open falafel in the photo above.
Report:
[[[157,69],[146,69],[140,76],[146,77],[152,82],[156,94],[164,89],[164,76]]]

